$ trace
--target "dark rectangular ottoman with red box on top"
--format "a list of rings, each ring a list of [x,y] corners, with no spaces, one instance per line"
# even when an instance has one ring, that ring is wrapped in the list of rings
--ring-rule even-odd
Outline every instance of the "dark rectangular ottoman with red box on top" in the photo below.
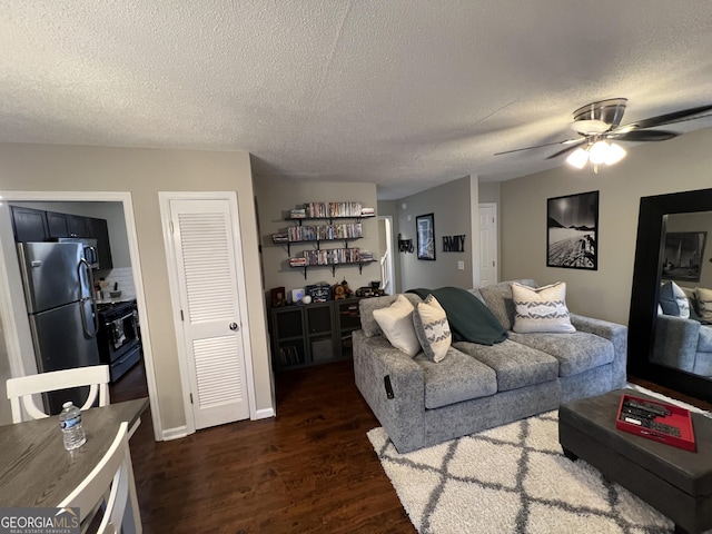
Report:
[[[691,453],[615,427],[619,389],[558,409],[558,442],[571,459],[585,459],[603,475],[647,502],[675,523],[676,533],[712,527],[712,421],[692,414],[698,452]]]

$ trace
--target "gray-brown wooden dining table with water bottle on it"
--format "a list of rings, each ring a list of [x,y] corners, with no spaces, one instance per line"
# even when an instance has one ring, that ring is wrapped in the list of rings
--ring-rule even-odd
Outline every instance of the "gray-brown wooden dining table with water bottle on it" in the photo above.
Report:
[[[87,443],[66,451],[59,416],[0,426],[0,507],[55,507],[103,457],[128,422],[131,428],[148,398],[81,413]]]

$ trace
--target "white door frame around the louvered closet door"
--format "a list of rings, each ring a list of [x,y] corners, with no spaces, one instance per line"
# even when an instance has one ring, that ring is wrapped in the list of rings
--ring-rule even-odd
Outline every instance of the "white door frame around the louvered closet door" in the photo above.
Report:
[[[180,388],[182,396],[182,405],[186,414],[186,435],[196,432],[195,413],[192,403],[190,402],[190,375],[186,358],[188,352],[184,344],[184,322],[181,319],[180,306],[180,284],[178,278],[178,264],[176,260],[176,251],[174,249],[172,233],[170,231],[170,201],[171,200],[228,200],[235,209],[233,218],[233,237],[236,253],[239,251],[239,259],[243,257],[243,239],[239,228],[239,205],[236,191],[158,191],[158,204],[160,206],[160,220],[164,231],[164,246],[166,248],[166,260],[168,264],[168,287],[170,290],[170,309],[174,319],[174,328],[176,336],[176,346],[178,350],[178,366],[180,369]],[[249,314],[247,310],[247,286],[245,281],[245,266],[243,261],[235,258],[235,268],[237,271],[237,290],[240,295],[238,299],[240,310],[240,333],[243,333],[243,348],[245,357],[245,386],[247,387],[247,403],[249,406],[249,418],[255,421],[260,418],[257,414],[257,400],[255,397],[255,375],[253,372],[253,352],[249,338]]]

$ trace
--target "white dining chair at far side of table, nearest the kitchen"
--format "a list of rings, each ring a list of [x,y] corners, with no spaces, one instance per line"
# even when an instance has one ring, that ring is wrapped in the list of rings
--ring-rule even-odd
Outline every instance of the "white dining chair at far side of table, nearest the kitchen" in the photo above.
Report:
[[[79,409],[92,407],[97,396],[99,397],[99,406],[107,406],[109,404],[109,366],[92,365],[8,378],[7,390],[12,408],[12,423],[24,421],[22,408],[24,408],[30,418],[41,419],[49,417],[49,414],[46,414],[37,405],[33,395],[80,386],[90,387],[87,402]]]

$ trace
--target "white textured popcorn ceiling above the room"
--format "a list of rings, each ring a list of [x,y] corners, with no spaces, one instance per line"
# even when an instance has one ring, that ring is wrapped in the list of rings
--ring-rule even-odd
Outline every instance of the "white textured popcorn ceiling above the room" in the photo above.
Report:
[[[595,100],[712,103],[692,0],[0,0],[0,141],[247,150],[258,179],[379,198],[562,165],[494,154],[573,137]]]

